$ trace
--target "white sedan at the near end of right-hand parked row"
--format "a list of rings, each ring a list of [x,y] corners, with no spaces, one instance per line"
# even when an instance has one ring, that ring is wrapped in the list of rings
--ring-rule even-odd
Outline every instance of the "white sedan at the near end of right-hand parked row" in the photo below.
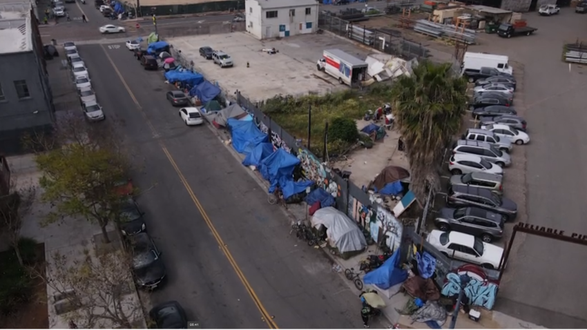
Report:
[[[431,231],[426,241],[449,258],[499,269],[503,249],[458,231]]]

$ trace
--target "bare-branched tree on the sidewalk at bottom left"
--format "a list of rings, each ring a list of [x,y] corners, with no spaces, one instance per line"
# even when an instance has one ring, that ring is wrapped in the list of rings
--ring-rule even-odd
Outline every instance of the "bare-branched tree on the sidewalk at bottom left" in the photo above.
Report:
[[[131,258],[121,250],[81,260],[55,253],[46,274],[37,272],[54,291],[50,302],[70,327],[131,329],[144,320],[129,269]]]

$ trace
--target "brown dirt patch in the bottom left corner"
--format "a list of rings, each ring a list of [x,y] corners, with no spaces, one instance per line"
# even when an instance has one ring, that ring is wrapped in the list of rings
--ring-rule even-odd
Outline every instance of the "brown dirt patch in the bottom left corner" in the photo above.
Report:
[[[36,249],[39,271],[45,271],[45,244],[38,244]],[[11,253],[6,251],[3,253]],[[30,301],[19,307],[10,317],[0,318],[1,329],[49,329],[47,310],[47,286],[41,278],[32,281]]]

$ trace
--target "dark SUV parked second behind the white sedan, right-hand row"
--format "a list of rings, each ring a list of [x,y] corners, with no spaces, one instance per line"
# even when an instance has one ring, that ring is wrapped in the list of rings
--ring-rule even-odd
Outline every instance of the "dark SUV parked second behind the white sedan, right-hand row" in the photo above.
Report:
[[[518,214],[516,203],[500,197],[489,189],[472,186],[451,186],[446,194],[449,206],[477,206],[503,215],[504,221],[514,220]]]

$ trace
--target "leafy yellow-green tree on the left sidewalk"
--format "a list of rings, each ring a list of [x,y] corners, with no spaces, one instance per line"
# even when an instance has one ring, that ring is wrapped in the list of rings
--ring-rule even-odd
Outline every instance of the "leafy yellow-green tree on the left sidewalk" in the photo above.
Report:
[[[42,199],[57,206],[48,214],[48,223],[64,216],[81,216],[97,222],[104,241],[110,242],[106,226],[119,217],[124,196],[117,184],[124,181],[126,162],[108,148],[73,142],[36,157],[43,176]]]

